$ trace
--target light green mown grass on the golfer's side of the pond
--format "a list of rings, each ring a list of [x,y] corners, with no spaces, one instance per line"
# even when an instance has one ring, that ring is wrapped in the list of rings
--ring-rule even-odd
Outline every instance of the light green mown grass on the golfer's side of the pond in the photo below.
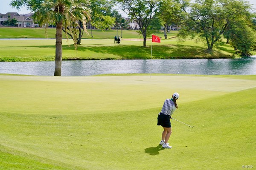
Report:
[[[178,92],[172,149],[163,101]],[[0,75],[0,169],[235,170],[256,166],[256,76]]]

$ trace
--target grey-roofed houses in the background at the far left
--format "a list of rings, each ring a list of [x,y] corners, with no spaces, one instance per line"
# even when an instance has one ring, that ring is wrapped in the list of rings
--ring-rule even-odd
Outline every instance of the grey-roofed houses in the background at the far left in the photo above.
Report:
[[[38,24],[34,23],[31,13],[29,14],[18,14],[17,12],[7,12],[6,14],[0,14],[0,25],[3,26],[3,22],[6,20],[17,20],[18,27],[36,27]]]

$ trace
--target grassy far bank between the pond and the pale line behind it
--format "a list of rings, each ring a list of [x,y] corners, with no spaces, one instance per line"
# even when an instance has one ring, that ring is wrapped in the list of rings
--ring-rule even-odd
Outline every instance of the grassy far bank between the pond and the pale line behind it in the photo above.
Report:
[[[75,50],[73,40],[63,40],[64,60],[71,59],[150,59],[151,40],[143,47],[142,40],[122,39],[121,44],[114,44],[113,39],[83,39]],[[177,58],[232,58],[233,49],[222,45],[208,54],[203,43],[194,40],[177,43],[177,38],[154,43],[153,59]],[[0,40],[0,61],[53,61],[55,59],[55,40]]]

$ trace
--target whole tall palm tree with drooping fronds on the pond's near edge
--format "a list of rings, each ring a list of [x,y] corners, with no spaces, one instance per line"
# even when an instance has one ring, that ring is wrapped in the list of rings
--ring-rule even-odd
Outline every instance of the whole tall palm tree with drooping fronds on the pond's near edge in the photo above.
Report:
[[[88,0],[12,0],[10,4],[17,9],[27,6],[34,12],[33,18],[40,26],[47,25],[50,21],[56,23],[54,76],[61,76],[62,28],[77,37],[79,20],[86,29],[86,20],[90,18],[89,4]],[[77,41],[74,43],[76,45]]]

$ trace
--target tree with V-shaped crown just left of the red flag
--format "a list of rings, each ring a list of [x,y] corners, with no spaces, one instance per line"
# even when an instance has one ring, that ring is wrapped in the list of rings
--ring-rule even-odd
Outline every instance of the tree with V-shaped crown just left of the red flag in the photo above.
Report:
[[[146,46],[148,26],[159,9],[160,0],[117,0],[123,11],[135,20],[140,26],[140,34],[143,36],[143,46]]]

